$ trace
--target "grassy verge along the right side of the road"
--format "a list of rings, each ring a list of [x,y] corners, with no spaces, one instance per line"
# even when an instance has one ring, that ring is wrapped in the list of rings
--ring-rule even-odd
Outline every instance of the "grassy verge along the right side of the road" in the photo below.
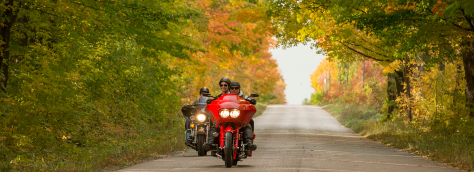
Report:
[[[456,133],[423,132],[401,119],[381,121],[378,109],[374,108],[345,103],[321,106],[361,136],[462,170],[474,170],[474,138]]]

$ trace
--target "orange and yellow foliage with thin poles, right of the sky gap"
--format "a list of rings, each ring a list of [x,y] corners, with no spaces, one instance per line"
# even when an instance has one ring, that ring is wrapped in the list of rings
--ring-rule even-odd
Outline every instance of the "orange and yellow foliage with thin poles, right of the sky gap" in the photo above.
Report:
[[[327,102],[344,101],[353,104],[382,106],[385,96],[386,78],[383,67],[372,60],[365,60],[365,80],[363,86],[363,62],[349,63],[349,83],[347,84],[347,63],[337,63],[325,58],[310,75],[311,86],[316,93],[323,94]],[[339,80],[339,65],[340,80]],[[325,83],[326,80],[326,83]]]

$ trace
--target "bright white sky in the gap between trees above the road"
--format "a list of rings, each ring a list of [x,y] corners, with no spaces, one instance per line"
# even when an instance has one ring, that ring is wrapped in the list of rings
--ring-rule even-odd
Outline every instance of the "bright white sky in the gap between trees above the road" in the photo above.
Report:
[[[324,56],[316,54],[316,50],[311,49],[310,45],[302,44],[287,49],[270,49],[270,52],[282,70],[287,104],[300,105],[304,98],[310,99],[314,92],[310,74],[316,70]]]

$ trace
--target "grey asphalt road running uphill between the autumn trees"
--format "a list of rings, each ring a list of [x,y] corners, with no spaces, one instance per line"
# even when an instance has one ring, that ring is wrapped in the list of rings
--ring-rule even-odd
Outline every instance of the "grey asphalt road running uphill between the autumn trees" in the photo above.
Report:
[[[254,120],[258,148],[237,166],[189,149],[118,172],[457,172],[359,136],[318,106],[270,105]]]

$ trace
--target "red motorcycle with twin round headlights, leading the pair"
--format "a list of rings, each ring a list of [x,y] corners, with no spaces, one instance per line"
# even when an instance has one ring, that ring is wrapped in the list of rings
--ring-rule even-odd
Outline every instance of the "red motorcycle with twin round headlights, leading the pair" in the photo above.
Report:
[[[204,96],[212,97],[210,94]],[[251,97],[258,97],[258,94],[251,94]],[[220,133],[212,133],[214,137],[219,137],[214,156],[224,160],[226,167],[237,165],[238,161],[252,156],[252,151],[243,143],[243,128],[249,125],[257,111],[254,105],[236,94],[224,94],[208,104],[205,111],[214,125],[220,127]]]

